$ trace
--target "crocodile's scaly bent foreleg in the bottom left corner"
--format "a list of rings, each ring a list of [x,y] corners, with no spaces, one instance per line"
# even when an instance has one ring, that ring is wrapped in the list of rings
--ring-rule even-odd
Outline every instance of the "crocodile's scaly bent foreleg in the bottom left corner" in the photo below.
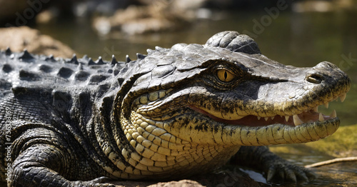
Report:
[[[22,151],[12,165],[11,180],[8,186],[114,186],[93,181],[69,181],[69,170],[81,173],[74,161],[69,160],[68,152],[53,145],[34,144]],[[78,174],[78,173],[77,173]],[[64,175],[64,176],[61,176]]]

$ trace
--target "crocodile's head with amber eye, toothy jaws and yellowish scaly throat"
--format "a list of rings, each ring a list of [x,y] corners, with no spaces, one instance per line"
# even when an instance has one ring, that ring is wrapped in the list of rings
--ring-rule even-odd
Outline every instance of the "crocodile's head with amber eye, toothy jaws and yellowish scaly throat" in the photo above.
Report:
[[[335,111],[327,116],[318,106],[343,101],[350,89],[337,66],[279,64],[234,31],[218,33],[205,45],[156,47],[128,66],[114,116],[139,156],[165,166],[171,157],[177,164],[178,156],[198,154],[202,145],[215,147],[218,153],[208,151],[215,158],[227,150],[222,147],[325,138],[340,121]]]

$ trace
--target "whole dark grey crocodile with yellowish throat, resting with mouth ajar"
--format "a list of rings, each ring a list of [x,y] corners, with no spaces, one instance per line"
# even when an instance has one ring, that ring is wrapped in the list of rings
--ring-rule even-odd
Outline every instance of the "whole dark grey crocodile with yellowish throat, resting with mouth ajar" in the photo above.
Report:
[[[285,66],[235,31],[147,53],[120,62],[1,51],[1,181],[110,186],[185,178],[232,158],[268,180],[308,180],[266,146],[330,136],[340,121],[318,106],[351,86],[334,64]]]

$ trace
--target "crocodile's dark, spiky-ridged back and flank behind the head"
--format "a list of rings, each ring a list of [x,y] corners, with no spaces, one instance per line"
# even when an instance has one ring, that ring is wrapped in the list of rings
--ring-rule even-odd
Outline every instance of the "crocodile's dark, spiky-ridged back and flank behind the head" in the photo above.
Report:
[[[1,181],[11,180],[11,164],[21,151],[34,144],[64,149],[66,151],[62,153],[75,157],[82,153],[84,159],[76,158],[77,161],[89,162],[75,136],[82,134],[85,124],[91,120],[96,99],[111,88],[119,87],[116,85],[118,81],[111,79],[119,74],[121,66],[124,62],[118,62],[114,57],[111,62],[104,62],[101,58],[93,61],[86,56],[54,59],[28,51],[0,51]],[[83,140],[81,143],[87,142]],[[41,153],[39,148],[31,153],[36,154],[50,153]],[[45,157],[39,156],[41,158]],[[22,162],[16,164],[26,164]],[[58,168],[58,164],[54,162],[54,168]],[[79,168],[74,170],[81,171]]]

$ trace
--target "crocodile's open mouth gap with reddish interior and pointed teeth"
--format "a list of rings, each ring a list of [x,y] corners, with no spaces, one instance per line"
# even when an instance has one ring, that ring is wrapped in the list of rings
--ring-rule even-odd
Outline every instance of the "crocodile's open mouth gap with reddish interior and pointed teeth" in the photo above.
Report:
[[[343,102],[345,98],[346,98],[346,93],[340,96],[341,102]],[[331,101],[324,103],[323,106],[328,108],[329,102]],[[214,121],[220,123],[227,123],[230,125],[237,125],[237,126],[268,126],[276,123],[280,123],[288,126],[299,126],[303,123],[323,122],[333,118],[337,118],[337,113],[335,110],[333,110],[333,112],[330,115],[324,115],[323,113],[318,112],[318,106],[315,106],[308,111],[296,113],[293,116],[276,115],[270,117],[260,117],[260,116],[248,115],[237,120],[227,120],[223,118],[218,118],[217,116],[213,116],[207,111],[204,111],[201,108],[197,108],[196,106],[190,106],[190,107],[194,111],[198,111],[199,113],[202,113],[203,115],[212,118]]]

